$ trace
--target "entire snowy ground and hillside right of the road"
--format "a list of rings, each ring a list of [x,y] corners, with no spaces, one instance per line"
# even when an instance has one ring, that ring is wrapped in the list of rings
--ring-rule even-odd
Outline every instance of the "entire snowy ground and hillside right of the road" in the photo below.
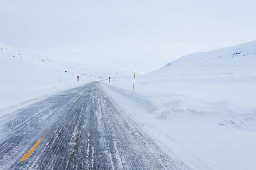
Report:
[[[192,169],[256,167],[256,41],[181,57],[102,87]]]

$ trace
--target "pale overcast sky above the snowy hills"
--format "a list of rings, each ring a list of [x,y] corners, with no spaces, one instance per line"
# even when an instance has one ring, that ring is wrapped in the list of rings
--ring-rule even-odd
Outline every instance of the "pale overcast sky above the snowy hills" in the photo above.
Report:
[[[148,72],[256,40],[255,0],[0,0],[0,42],[54,60]]]

